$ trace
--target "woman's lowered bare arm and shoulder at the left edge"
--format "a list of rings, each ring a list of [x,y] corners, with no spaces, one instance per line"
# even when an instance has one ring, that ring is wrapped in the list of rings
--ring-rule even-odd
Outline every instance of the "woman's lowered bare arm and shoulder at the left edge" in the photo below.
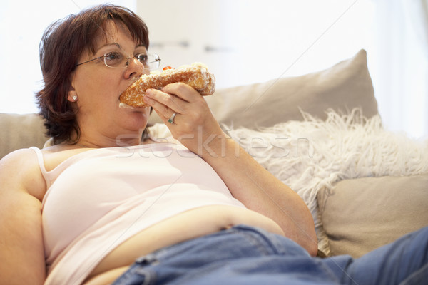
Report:
[[[0,160],[0,284],[44,284],[44,181],[31,150]]]

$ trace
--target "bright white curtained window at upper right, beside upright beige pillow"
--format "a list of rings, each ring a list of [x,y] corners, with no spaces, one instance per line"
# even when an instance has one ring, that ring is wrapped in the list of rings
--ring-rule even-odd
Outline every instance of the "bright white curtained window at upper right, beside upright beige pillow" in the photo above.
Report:
[[[414,6],[423,0],[375,2],[372,78],[379,113],[390,130],[428,138],[428,22],[420,21],[428,15]]]

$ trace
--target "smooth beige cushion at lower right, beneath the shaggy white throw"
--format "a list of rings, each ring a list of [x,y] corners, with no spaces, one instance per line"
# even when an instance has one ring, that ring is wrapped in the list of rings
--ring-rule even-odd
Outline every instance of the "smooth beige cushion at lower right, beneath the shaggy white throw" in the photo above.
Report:
[[[342,180],[318,203],[330,254],[360,257],[428,225],[428,174]]]

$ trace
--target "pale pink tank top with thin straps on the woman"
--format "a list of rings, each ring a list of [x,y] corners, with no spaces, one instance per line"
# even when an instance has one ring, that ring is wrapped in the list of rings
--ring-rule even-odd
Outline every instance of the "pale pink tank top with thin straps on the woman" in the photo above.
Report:
[[[213,204],[244,207],[208,163],[182,145],[88,150],[46,171],[42,203],[45,284],[81,284],[134,234],[175,214]]]

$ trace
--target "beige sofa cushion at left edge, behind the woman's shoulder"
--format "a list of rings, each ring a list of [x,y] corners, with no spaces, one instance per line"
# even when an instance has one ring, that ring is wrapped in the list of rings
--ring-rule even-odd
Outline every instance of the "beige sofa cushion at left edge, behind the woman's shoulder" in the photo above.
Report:
[[[43,119],[36,114],[0,113],[0,158],[25,147],[43,147],[48,138]]]

